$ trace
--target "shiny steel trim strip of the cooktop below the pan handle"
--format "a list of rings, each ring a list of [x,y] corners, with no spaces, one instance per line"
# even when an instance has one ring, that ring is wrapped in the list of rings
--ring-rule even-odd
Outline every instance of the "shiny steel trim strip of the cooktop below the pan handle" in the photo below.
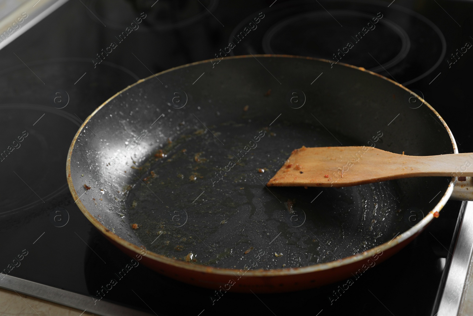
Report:
[[[473,202],[466,202],[437,316],[456,316],[464,295],[473,253]]]

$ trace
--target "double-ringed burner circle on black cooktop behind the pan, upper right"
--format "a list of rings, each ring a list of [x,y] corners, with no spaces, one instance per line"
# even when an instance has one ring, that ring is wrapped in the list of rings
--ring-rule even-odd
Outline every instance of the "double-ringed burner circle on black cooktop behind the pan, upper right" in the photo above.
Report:
[[[259,29],[230,54],[323,58],[364,67],[403,85],[429,75],[446,54],[440,29],[423,15],[397,4],[387,9],[385,2],[371,0],[290,1],[263,12],[267,18]],[[252,15],[241,21],[229,41],[241,34],[251,19]]]

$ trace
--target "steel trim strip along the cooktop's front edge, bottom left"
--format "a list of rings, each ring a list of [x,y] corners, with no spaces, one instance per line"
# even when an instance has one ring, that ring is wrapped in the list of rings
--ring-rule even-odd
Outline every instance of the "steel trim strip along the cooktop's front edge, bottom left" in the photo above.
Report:
[[[151,315],[135,309],[116,305],[105,300],[96,301],[92,296],[77,294],[10,275],[2,274],[1,277],[4,277],[0,280],[0,288],[2,289],[17,291],[18,293],[35,298],[41,298],[53,303],[77,308],[81,311],[87,310],[89,313],[102,316]]]

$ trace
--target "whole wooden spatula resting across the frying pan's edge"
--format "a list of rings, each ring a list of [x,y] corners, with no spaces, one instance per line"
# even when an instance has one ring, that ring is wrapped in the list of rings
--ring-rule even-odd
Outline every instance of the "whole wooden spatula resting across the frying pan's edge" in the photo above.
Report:
[[[272,187],[349,187],[410,177],[473,176],[473,153],[407,156],[366,146],[294,150]]]

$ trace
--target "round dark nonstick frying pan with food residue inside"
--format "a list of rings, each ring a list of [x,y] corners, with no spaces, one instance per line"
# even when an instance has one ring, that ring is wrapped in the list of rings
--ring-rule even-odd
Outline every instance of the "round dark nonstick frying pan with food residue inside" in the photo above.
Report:
[[[394,81],[250,55],[176,67],[115,94],[79,128],[67,179],[82,213],[123,252],[220,293],[359,276],[419,235],[454,190],[456,178],[444,177],[265,187],[302,145],[458,153],[438,113]]]

